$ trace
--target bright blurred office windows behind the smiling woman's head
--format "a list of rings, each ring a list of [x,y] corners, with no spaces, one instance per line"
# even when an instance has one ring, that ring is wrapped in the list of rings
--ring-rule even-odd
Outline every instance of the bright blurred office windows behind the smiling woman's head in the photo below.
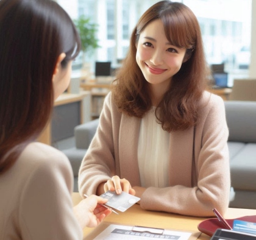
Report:
[[[124,58],[130,32],[138,18],[158,0],[56,0],[76,19],[85,15],[98,24],[100,48],[87,56],[94,71],[94,62],[110,61],[112,66]],[[176,0],[193,10],[201,25],[205,53],[209,65],[225,63],[233,79],[256,77],[256,1],[255,0]],[[254,21],[255,19],[255,21]],[[80,57],[81,59],[82,57]],[[82,62],[82,60],[81,60]],[[74,74],[79,69],[79,59]]]

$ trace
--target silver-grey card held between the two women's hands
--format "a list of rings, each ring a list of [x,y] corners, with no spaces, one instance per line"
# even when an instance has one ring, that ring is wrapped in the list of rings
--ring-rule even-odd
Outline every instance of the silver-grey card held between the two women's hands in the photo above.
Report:
[[[116,194],[116,192],[107,191],[104,194],[101,194],[101,197],[108,199],[108,202],[105,203],[105,205],[115,208],[121,212],[126,211],[140,200],[140,197],[135,197],[127,192]]]

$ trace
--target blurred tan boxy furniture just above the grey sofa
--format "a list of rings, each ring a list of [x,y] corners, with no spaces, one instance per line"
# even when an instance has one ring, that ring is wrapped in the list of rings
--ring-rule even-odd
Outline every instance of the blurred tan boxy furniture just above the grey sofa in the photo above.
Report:
[[[256,79],[234,79],[231,101],[256,101]]]

